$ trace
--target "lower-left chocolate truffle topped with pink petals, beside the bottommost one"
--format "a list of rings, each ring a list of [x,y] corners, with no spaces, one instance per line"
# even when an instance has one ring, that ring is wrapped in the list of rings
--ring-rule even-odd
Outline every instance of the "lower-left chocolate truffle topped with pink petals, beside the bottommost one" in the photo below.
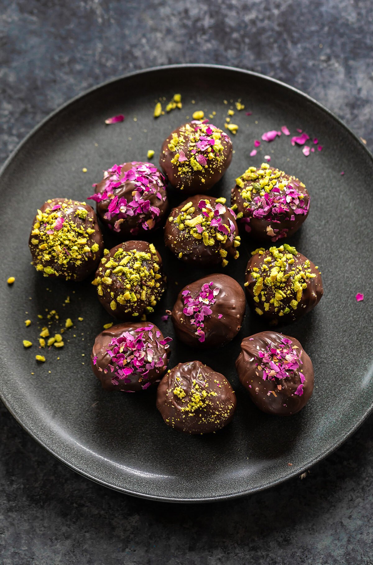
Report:
[[[93,372],[106,390],[145,390],[166,372],[170,341],[149,322],[114,325],[96,337]]]

